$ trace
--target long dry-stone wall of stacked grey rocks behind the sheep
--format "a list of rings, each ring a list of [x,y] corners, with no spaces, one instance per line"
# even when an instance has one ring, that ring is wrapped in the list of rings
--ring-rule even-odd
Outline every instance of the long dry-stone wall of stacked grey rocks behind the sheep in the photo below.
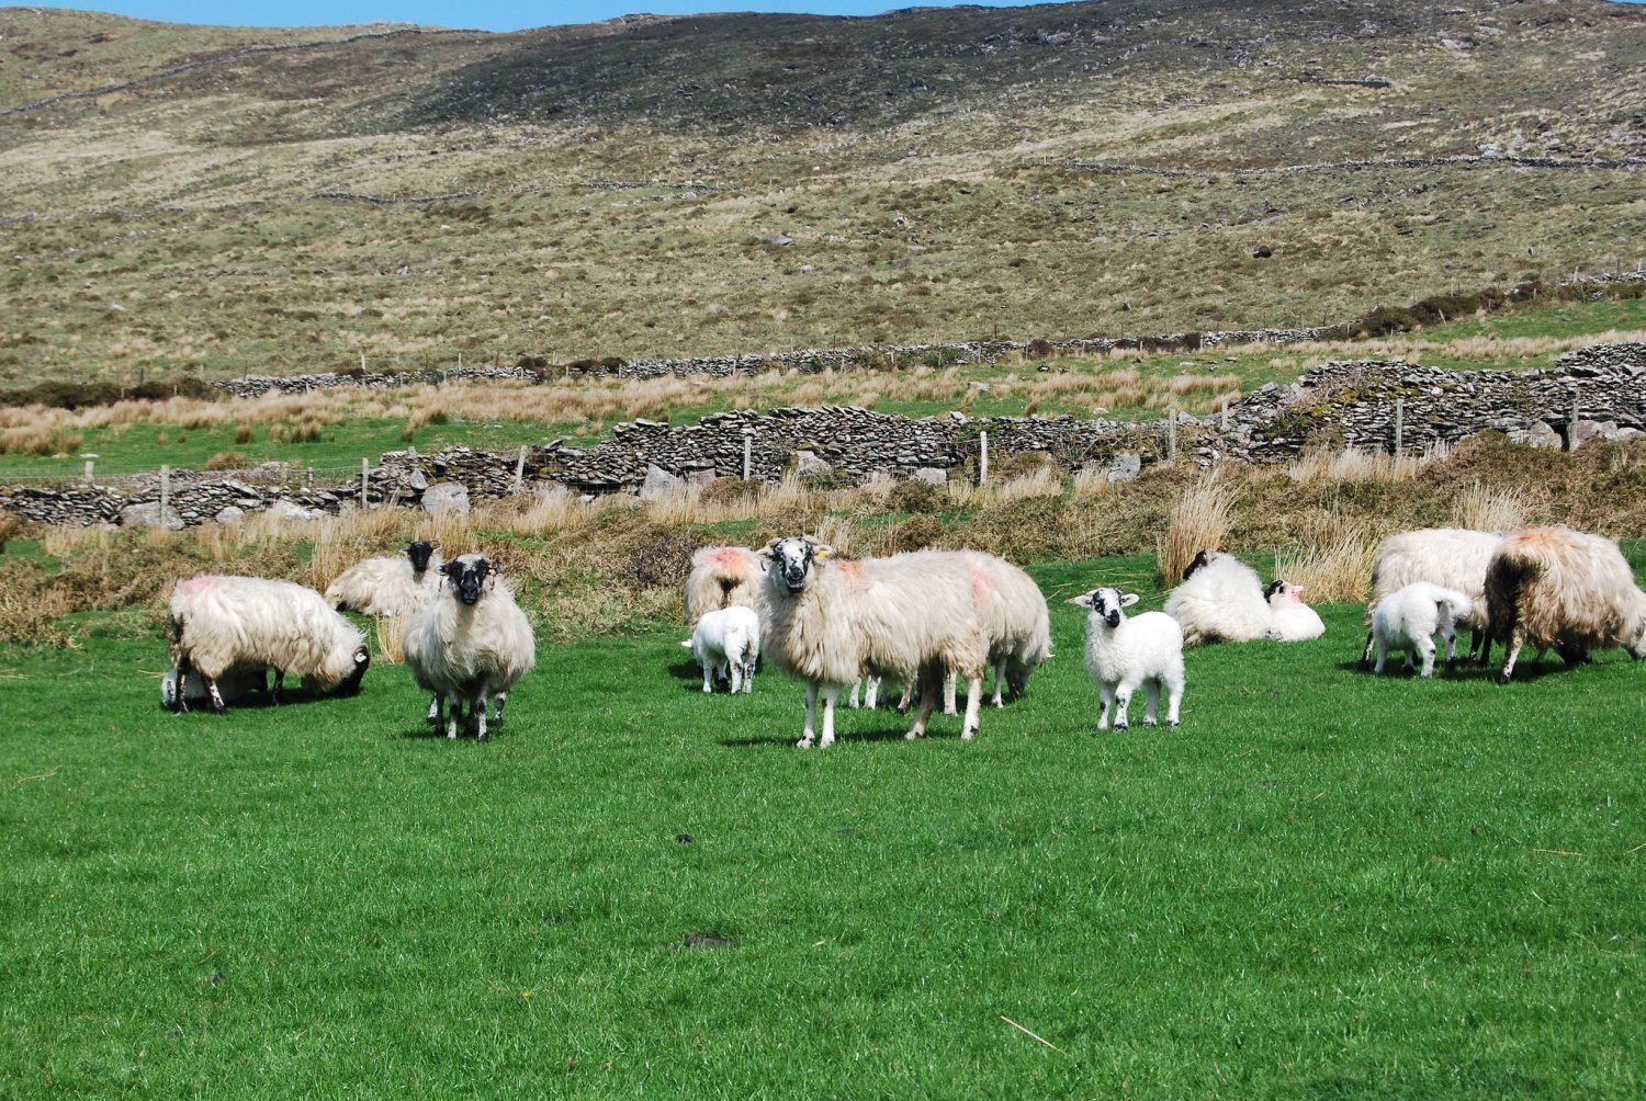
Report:
[[[1574,420],[1574,408],[1577,416]],[[1299,382],[1269,383],[1230,406],[1226,418],[1179,415],[1183,461],[1276,462],[1310,441],[1420,449],[1500,430],[1537,446],[1628,439],[1646,433],[1646,344],[1597,344],[1534,372],[1447,370],[1401,360],[1335,360]],[[683,484],[787,472],[859,482],[876,474],[945,482],[974,477],[979,436],[991,456],[1044,453],[1065,469],[1134,476],[1167,453],[1160,421],[1073,416],[966,416],[912,420],[858,406],[711,413],[696,425],[637,420],[589,448],[555,439],[520,453],[448,448],[390,451],[367,479],[367,500],[466,510],[472,499],[565,487],[579,494],[678,492]],[[250,472],[176,472],[166,515],[160,479],[143,476],[69,487],[20,487],[0,505],[46,523],[166,523],[184,527],[277,510],[290,518],[339,512],[359,502],[359,482],[300,484],[301,472],[265,464]]]

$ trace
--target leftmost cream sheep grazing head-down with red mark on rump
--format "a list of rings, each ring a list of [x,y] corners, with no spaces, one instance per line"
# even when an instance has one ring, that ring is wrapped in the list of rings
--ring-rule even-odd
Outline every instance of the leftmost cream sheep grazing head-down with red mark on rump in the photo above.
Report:
[[[273,701],[286,673],[316,691],[352,696],[370,665],[359,630],[314,589],[265,578],[201,574],[171,591],[171,663],[184,688],[198,675],[212,711],[226,709],[217,678],[273,667]],[[188,691],[174,696],[188,711]]]

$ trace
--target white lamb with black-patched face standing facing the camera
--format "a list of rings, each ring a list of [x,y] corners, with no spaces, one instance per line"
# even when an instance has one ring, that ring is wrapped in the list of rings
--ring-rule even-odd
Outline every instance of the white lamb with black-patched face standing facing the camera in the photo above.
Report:
[[[1137,594],[1119,589],[1093,589],[1068,602],[1088,609],[1086,671],[1103,698],[1098,729],[1109,726],[1109,704],[1116,704],[1114,729],[1128,727],[1126,708],[1139,685],[1147,693],[1142,724],[1155,724],[1164,688],[1165,722],[1177,726],[1177,708],[1183,701],[1183,629],[1179,622],[1165,612],[1128,619],[1121,609],[1136,604]]]

